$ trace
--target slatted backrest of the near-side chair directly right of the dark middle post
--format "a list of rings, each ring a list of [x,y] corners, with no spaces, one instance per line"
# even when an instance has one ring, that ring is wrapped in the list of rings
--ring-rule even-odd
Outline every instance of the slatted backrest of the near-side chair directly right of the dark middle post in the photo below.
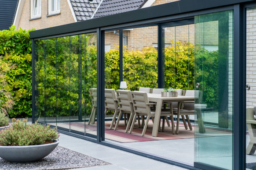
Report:
[[[105,89],[105,109],[117,110],[117,94],[115,89]]]

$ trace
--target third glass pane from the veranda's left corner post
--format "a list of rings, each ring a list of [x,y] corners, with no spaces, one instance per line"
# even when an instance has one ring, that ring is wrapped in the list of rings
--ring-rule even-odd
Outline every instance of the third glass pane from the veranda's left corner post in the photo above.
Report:
[[[69,129],[69,36],[57,38],[57,126]]]

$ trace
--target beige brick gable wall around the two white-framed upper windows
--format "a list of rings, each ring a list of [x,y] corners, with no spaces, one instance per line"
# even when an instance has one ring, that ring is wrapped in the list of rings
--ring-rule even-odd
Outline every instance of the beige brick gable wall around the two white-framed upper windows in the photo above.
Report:
[[[54,27],[58,25],[64,25],[75,22],[69,4],[67,0],[61,0],[60,4],[61,14],[47,17],[48,15],[48,0],[41,0],[41,18],[30,20],[30,0],[25,0],[25,4],[22,10],[21,18],[16,29],[43,29]]]

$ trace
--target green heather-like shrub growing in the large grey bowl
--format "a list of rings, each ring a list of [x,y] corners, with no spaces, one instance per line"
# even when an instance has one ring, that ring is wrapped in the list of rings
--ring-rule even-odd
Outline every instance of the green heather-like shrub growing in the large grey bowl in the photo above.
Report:
[[[12,119],[10,128],[0,131],[0,145],[27,146],[42,145],[59,138],[56,128],[38,124],[27,124],[27,120]]]

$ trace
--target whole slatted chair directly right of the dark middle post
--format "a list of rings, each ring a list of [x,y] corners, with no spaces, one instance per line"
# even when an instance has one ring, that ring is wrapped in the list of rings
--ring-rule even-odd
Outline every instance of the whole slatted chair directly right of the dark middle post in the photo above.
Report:
[[[120,111],[117,103],[117,95],[115,89],[105,89],[105,117],[107,111],[114,111],[114,116],[110,125],[112,129],[116,121],[117,113]]]

